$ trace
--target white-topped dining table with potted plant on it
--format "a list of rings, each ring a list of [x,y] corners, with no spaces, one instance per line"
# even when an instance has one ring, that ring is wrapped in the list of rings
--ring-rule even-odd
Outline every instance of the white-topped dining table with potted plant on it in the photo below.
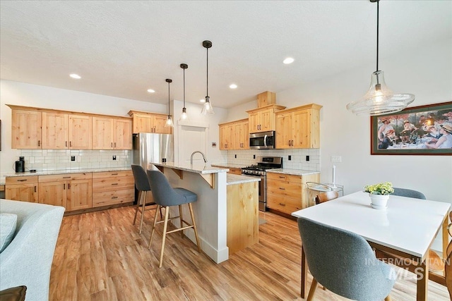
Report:
[[[448,243],[447,223],[451,204],[390,195],[386,209],[374,209],[367,192],[355,192],[292,213],[328,226],[361,235],[371,247],[420,263],[417,300],[427,300],[428,250],[442,229],[443,254]],[[307,285],[307,262],[302,247],[301,297]]]

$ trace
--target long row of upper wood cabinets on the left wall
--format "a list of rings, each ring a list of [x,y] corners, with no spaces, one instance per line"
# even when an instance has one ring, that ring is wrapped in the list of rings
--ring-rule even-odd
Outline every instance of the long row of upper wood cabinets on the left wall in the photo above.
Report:
[[[8,104],[13,149],[132,149],[129,117]]]

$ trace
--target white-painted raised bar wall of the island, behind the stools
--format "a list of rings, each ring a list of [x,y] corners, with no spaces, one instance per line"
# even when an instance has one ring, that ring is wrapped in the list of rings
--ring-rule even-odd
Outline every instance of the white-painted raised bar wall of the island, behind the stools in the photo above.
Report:
[[[201,250],[216,263],[226,261],[229,259],[226,172],[215,173],[215,185],[214,188],[211,188],[199,173],[184,171],[184,177],[181,179],[176,173],[168,171],[169,168],[165,166],[165,176],[172,187],[185,188],[198,195],[198,200],[193,203],[193,209]],[[185,208],[186,206],[183,207],[184,219],[190,221],[189,210]],[[172,209],[171,214],[177,215],[178,210],[177,208]],[[173,223],[180,226],[178,219]],[[193,229],[188,229],[184,233],[192,242],[196,243]]]

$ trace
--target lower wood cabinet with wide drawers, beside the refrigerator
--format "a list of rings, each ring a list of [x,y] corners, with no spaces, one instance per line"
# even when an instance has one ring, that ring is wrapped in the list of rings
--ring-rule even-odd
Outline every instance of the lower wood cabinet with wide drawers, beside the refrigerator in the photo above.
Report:
[[[93,207],[133,202],[134,185],[132,171],[93,173]]]

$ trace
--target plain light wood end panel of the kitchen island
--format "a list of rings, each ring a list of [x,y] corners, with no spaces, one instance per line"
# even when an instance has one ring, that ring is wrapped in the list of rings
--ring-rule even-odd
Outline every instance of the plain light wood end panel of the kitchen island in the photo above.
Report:
[[[258,231],[258,182],[227,185],[229,254],[257,243]]]

